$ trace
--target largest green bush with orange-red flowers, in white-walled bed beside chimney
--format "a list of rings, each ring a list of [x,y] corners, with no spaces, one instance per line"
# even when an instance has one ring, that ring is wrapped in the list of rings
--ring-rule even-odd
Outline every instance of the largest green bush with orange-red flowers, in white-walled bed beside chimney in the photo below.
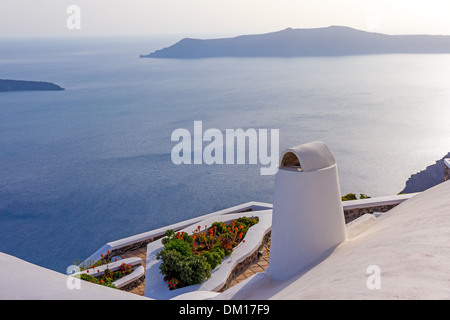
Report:
[[[245,242],[248,229],[258,221],[257,217],[241,217],[229,225],[214,222],[204,230],[198,226],[192,235],[167,230],[166,237],[161,240],[164,248],[156,258],[162,260],[160,271],[169,289],[199,284],[209,278],[211,270]]]

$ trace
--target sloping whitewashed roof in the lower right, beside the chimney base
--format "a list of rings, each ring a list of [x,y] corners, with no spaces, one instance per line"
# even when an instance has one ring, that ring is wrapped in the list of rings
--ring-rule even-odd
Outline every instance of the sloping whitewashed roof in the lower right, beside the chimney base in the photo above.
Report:
[[[450,181],[383,214],[287,281],[260,273],[215,298],[449,299],[449,284]]]

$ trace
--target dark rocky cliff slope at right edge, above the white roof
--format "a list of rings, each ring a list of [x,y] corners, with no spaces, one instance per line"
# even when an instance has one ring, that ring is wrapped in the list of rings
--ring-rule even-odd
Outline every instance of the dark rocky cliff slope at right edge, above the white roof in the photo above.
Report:
[[[450,152],[425,170],[413,174],[400,193],[422,192],[444,182],[444,159],[446,158],[450,158]]]

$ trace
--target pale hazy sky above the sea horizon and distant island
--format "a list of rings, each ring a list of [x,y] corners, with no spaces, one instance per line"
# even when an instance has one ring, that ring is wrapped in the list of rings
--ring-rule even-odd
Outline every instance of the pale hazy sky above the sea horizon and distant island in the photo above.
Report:
[[[70,5],[79,7],[78,16],[67,13]],[[79,18],[80,29],[67,27],[70,17]],[[330,25],[450,35],[450,1],[0,0],[0,36],[234,36]]]

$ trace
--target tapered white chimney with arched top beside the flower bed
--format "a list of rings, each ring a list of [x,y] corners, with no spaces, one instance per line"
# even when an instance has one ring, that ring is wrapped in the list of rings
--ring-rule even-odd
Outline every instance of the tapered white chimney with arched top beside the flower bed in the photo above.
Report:
[[[336,160],[320,141],[285,150],[275,176],[268,272],[306,271],[347,239]]]

